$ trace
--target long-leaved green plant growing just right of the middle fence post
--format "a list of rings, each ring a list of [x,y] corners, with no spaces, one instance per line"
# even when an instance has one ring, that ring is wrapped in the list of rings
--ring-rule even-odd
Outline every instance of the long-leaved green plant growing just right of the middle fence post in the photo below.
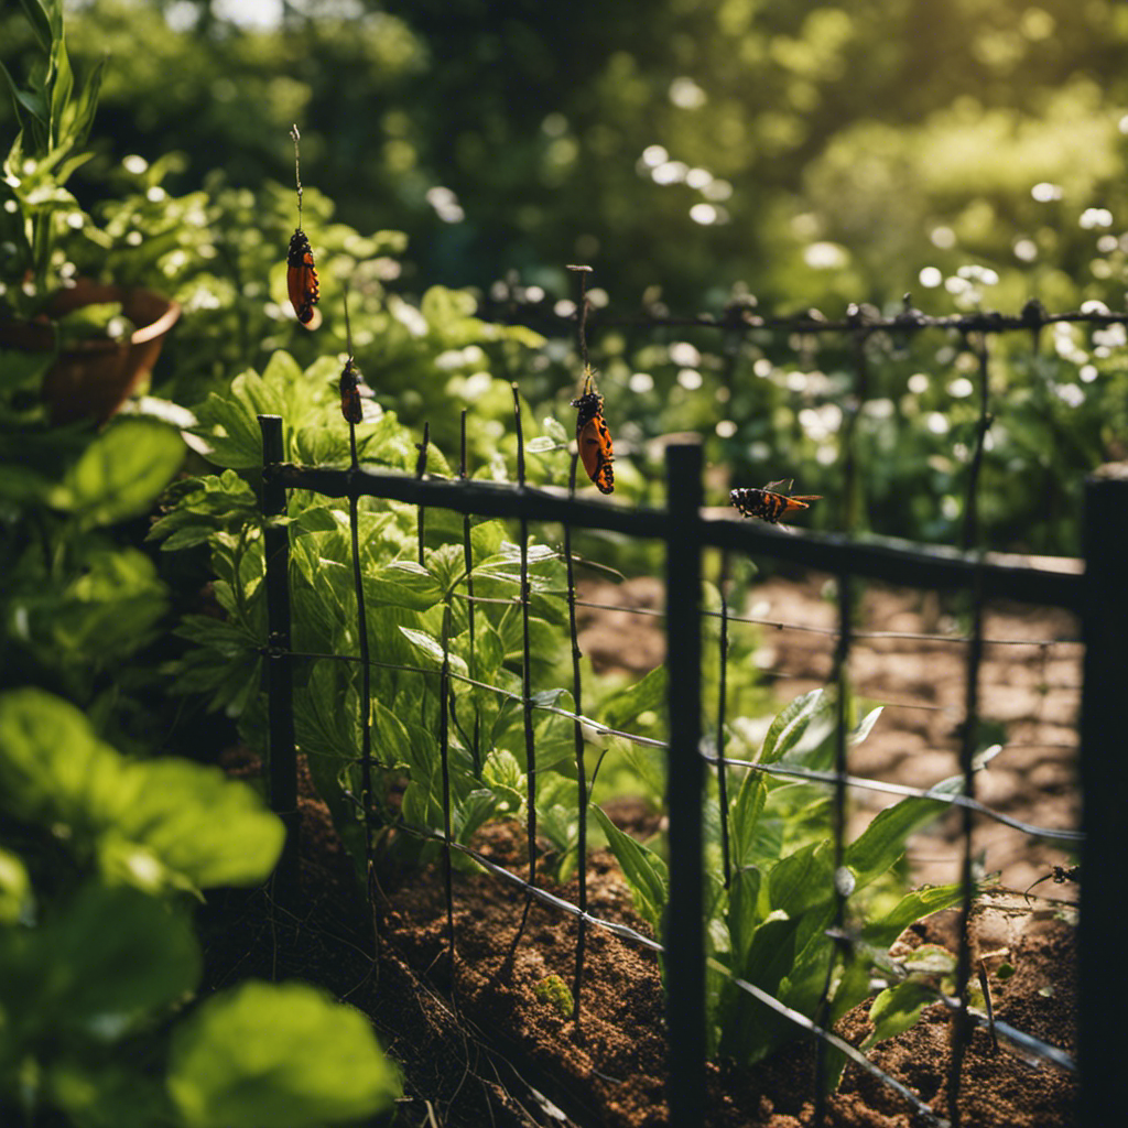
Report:
[[[852,743],[865,738],[880,712],[873,710],[852,726]],[[772,723],[757,763],[831,768],[836,716],[832,695],[825,690],[796,698]],[[955,793],[961,785],[962,777],[953,777],[935,790]],[[846,844],[848,879],[834,873],[834,848],[827,835],[830,804],[825,784],[795,783],[744,769],[729,805],[732,880],[728,889],[720,875],[719,822],[715,818],[706,822],[711,863],[705,899],[707,946],[729,972],[708,972],[712,1045],[720,1055],[741,1064],[770,1055],[799,1037],[799,1029],[738,988],[730,976],[814,1017],[836,952],[826,933],[834,920],[836,881],[849,883],[851,927],[862,955],[830,980],[829,1011],[821,1016],[830,1024],[869,994],[870,961],[864,953],[888,949],[913,922],[960,897],[959,885],[899,891],[895,873],[908,836],[943,813],[946,803],[909,797],[882,811]],[[592,810],[623,867],[636,908],[660,933],[669,896],[666,862],[654,848],[615,827],[598,808]]]

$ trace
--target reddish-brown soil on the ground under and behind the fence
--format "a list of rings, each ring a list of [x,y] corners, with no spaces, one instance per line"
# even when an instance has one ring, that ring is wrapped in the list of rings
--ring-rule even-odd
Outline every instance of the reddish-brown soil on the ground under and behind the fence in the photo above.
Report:
[[[660,606],[659,584],[632,583],[602,592],[592,585],[584,594],[594,602],[636,600],[638,606]],[[820,599],[818,587],[784,580],[759,584],[744,611],[827,626],[834,617],[832,605]],[[607,622],[617,614],[593,613],[588,618],[581,645],[593,660],[605,667],[623,666],[624,655],[645,655],[646,669],[661,661],[658,624],[633,616]],[[926,633],[949,626],[938,608],[876,589],[866,592],[863,622],[867,629]],[[763,644],[755,658],[776,678],[781,702],[822,684],[832,640],[760,629]],[[637,632],[645,633],[645,640],[636,637]],[[1002,608],[988,616],[987,635],[1067,638],[1076,637],[1076,626],[1054,613]],[[852,750],[852,772],[915,785],[954,773],[955,726],[963,700],[961,651],[951,643],[858,641],[853,656],[858,691],[904,704],[887,710],[871,738]],[[998,766],[984,774],[985,801],[1029,821],[1075,825],[1078,666],[1079,646],[987,647],[984,714],[1005,722],[1007,748],[995,761]],[[257,770],[238,755],[229,758],[228,768],[237,775]],[[300,978],[368,1013],[404,1072],[405,1100],[397,1122],[467,1128],[669,1123],[663,999],[652,952],[603,929],[588,929],[578,1028],[535,992],[550,975],[571,986],[574,918],[534,901],[514,948],[526,913],[523,893],[484,873],[456,872],[451,966],[441,864],[399,878],[384,873],[381,883],[373,883],[369,908],[356,892],[351,863],[324,804],[308,779],[301,790],[300,913],[287,911],[264,891],[212,898],[202,913],[210,986],[249,975]],[[866,795],[853,819],[861,823],[889,801]],[[641,804],[619,801],[609,809],[616,821],[635,832],[653,829],[652,816]],[[953,880],[957,821],[943,820],[922,839],[911,849],[919,880]],[[499,864],[522,872],[527,852],[517,825],[484,828],[475,845]],[[972,924],[972,955],[982,959],[989,973],[995,1013],[1073,1052],[1075,957],[1067,904],[1073,887],[1046,882],[1037,890],[1060,900],[1021,896],[1051,864],[1066,858],[1030,846],[1014,831],[1001,835],[992,826],[977,829],[975,846],[986,852],[988,870],[1001,871],[996,887],[977,905]],[[573,902],[578,897],[574,880],[553,891]],[[605,852],[589,858],[588,898],[596,916],[647,932],[632,908],[614,858]],[[954,950],[954,914],[938,914],[910,928],[895,954],[925,942]],[[1015,969],[1006,979],[996,973],[1004,964]],[[869,1032],[866,1012],[867,1004],[855,1008],[838,1032],[861,1042]],[[938,1114],[949,1114],[950,1023],[940,1004],[929,1007],[914,1029],[879,1043],[869,1057]],[[716,1128],[812,1123],[813,1067],[809,1043],[795,1043],[750,1070],[731,1063],[710,1065],[707,1123]],[[972,1038],[961,1077],[959,1107],[966,1126],[1055,1128],[1075,1122],[1072,1075],[1039,1067],[1005,1043],[995,1048],[984,1031]],[[826,1122],[843,1128],[908,1128],[913,1120],[900,1096],[852,1065],[829,1100]]]

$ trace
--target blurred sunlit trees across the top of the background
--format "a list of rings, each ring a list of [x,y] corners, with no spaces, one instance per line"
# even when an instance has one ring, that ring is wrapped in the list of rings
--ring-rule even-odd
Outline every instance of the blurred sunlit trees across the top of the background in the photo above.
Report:
[[[70,37],[112,55],[80,182],[180,151],[176,191],[292,183],[297,122],[336,218],[408,233],[403,289],[581,261],[627,309],[944,311],[977,264],[987,305],[1122,306],[1110,0],[76,0]]]

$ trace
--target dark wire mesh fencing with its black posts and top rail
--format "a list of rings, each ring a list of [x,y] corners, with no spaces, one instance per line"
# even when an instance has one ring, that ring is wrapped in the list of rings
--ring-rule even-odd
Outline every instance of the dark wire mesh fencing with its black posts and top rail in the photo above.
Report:
[[[1125,318],[1109,315],[1111,321],[1122,324]],[[1036,329],[1054,320],[1085,319],[1086,315],[1058,315],[1050,317],[1038,307],[1030,306],[1016,319],[985,316],[957,319],[959,332],[979,333],[984,341],[988,334],[1012,329]],[[1105,315],[1089,315],[1095,324],[1105,324]],[[878,329],[896,328],[915,332],[927,327],[937,319],[922,319],[915,311],[907,310],[901,318],[891,323],[867,317],[864,312],[849,315],[839,324],[807,321],[779,323],[776,329],[787,328],[803,333],[839,332],[864,337]],[[695,323],[700,324],[700,323]],[[713,323],[717,324],[717,323]],[[747,317],[734,320],[725,327],[737,331],[763,328],[763,321],[751,323]],[[864,353],[858,350],[858,386],[864,384]],[[459,476],[455,479],[428,477],[428,439],[420,448],[420,459],[414,476],[378,473],[360,466],[353,443],[352,466],[346,469],[328,467],[300,467],[287,464],[282,451],[282,420],[277,416],[259,416],[264,450],[264,513],[267,517],[284,513],[285,491],[305,490],[329,497],[347,499],[350,529],[352,535],[354,588],[358,613],[359,653],[302,654],[291,647],[290,606],[287,594],[288,583],[288,535],[284,526],[267,521],[266,587],[270,610],[270,640],[266,647],[270,690],[270,779],[272,802],[288,820],[290,839],[288,852],[279,870],[276,896],[285,900],[298,896],[297,889],[297,793],[296,776],[297,747],[292,720],[292,669],[297,659],[346,661],[358,663],[361,673],[361,744],[356,763],[361,772],[361,794],[356,802],[367,823],[369,862],[371,862],[372,787],[373,767],[377,759],[372,751],[370,729],[370,682],[372,669],[384,666],[378,656],[369,653],[369,629],[364,620],[364,590],[360,571],[360,546],[358,540],[358,512],[362,497],[398,501],[418,506],[420,563],[424,561],[423,528],[424,512],[446,509],[462,514],[462,552],[466,562],[465,583],[457,597],[466,603],[469,626],[470,660],[467,672],[455,668],[451,661],[450,606],[448,599],[443,611],[439,638],[439,652],[434,667],[406,667],[391,663],[403,672],[423,679],[429,691],[437,695],[438,731],[435,743],[441,777],[441,807],[443,812],[441,832],[429,827],[407,826],[406,832],[430,838],[442,846],[443,879],[447,905],[448,951],[453,967],[457,949],[455,928],[455,888],[452,876],[452,854],[466,854],[500,881],[514,884],[523,891],[525,908],[513,944],[520,942],[529,906],[536,899],[562,914],[578,920],[578,945],[573,976],[573,1017],[582,1019],[583,968],[585,936],[588,928],[602,928],[625,941],[663,954],[667,968],[668,1037],[670,1042],[670,1120],[677,1125],[704,1123],[705,1116],[705,1057],[706,1017],[705,993],[707,972],[728,977],[740,992],[755,998],[759,1005],[773,1011],[783,1021],[794,1024],[818,1045],[817,1076],[812,1078],[816,1098],[816,1120],[822,1122],[826,1114],[825,1085],[819,1083],[828,1068],[827,1058],[831,1052],[845,1055],[860,1068],[880,1077],[881,1082],[897,1092],[914,1116],[927,1123],[960,1123],[960,1086],[962,1059],[977,1024],[990,1024],[993,1032],[1003,1033],[1014,1045],[1039,1055],[1060,1068],[1075,1068],[1072,1057],[1059,1048],[1008,1026],[993,1016],[972,1008],[970,1004],[973,972],[969,926],[976,890],[975,858],[972,853],[972,830],[977,820],[990,820],[1007,826],[1031,838],[1061,844],[1066,849],[1084,847],[1083,872],[1085,884],[1082,904],[1081,944],[1083,957],[1089,952],[1104,958],[1110,955],[1110,929],[1116,929],[1122,916],[1119,900],[1111,896],[1111,871],[1114,861],[1108,846],[1116,841],[1114,802],[1123,797],[1123,769],[1113,764],[1122,756],[1114,757],[1117,724],[1111,712],[1116,700],[1114,687],[1122,682],[1128,669],[1125,637],[1128,636],[1128,608],[1125,603],[1122,583],[1122,561],[1125,559],[1123,514],[1128,501],[1126,479],[1114,474],[1098,477],[1086,487],[1086,541],[1085,571],[1061,570],[1046,561],[1019,559],[999,554],[976,550],[979,541],[979,519],[977,508],[978,475],[981,466],[982,446],[990,423],[988,400],[988,350],[980,350],[984,373],[980,381],[981,411],[977,428],[977,446],[971,452],[967,505],[962,528],[962,549],[926,548],[885,538],[852,538],[841,534],[793,534],[757,523],[717,515],[703,508],[703,457],[699,443],[671,443],[666,450],[666,505],[662,509],[628,510],[619,506],[589,502],[575,496],[575,456],[572,458],[571,479],[566,491],[529,486],[526,482],[525,441],[521,426],[520,403],[514,388],[514,428],[517,433],[517,481],[513,484],[483,482],[468,478],[466,465],[466,417],[461,420],[462,451]],[[862,388],[864,391],[864,388]],[[854,411],[861,399],[856,399]],[[354,428],[353,424],[351,426]],[[354,433],[354,431],[353,431]],[[844,468],[845,495],[856,496],[858,482],[856,472],[851,470],[847,446],[847,464]],[[496,597],[483,596],[474,590],[474,567],[470,548],[470,517],[500,518],[517,522],[518,527],[518,594],[502,600],[515,606],[521,616],[521,661],[520,690],[491,685],[475,677],[475,618],[476,609],[494,601]],[[564,530],[563,562],[566,567],[566,587],[554,591],[556,598],[566,601],[569,631],[572,651],[573,684],[571,687],[573,708],[565,710],[538,697],[532,685],[534,646],[529,628],[532,590],[530,587],[530,522],[550,522]],[[655,739],[643,733],[632,733],[601,724],[584,715],[582,710],[583,687],[580,675],[580,647],[578,643],[576,608],[587,602],[578,597],[574,573],[575,557],[571,545],[573,529],[599,529],[619,534],[627,538],[658,541],[666,558],[666,606],[652,613],[664,620],[667,638],[667,668],[669,673],[667,693],[668,739]],[[703,554],[716,550],[722,564],[719,609],[702,606]],[[832,687],[838,710],[835,724],[834,765],[831,769],[805,768],[801,765],[765,764],[757,759],[734,758],[726,755],[726,671],[728,636],[737,625],[757,623],[761,626],[783,629],[790,624],[772,620],[764,616],[743,615],[729,607],[725,598],[729,559],[734,556],[765,557],[785,561],[829,573],[837,578],[837,624],[834,627],[804,627],[834,642],[831,670],[828,684]],[[928,591],[962,592],[967,603],[969,628],[959,634],[928,634],[924,632],[866,632],[854,627],[855,580],[878,580],[902,587]],[[455,593],[451,593],[455,598]],[[1085,677],[1083,685],[1082,724],[1082,775],[1086,786],[1084,829],[1038,826],[996,810],[976,794],[978,770],[976,722],[980,711],[980,670],[986,645],[1030,644],[1028,640],[985,636],[984,609],[990,600],[1006,599],[1023,603],[1060,607],[1081,616],[1083,642],[1085,644]],[[623,608],[641,613],[637,608]],[[719,671],[720,688],[715,729],[708,731],[703,720],[703,640],[702,624],[716,619],[720,632]],[[964,690],[962,707],[959,710],[959,768],[958,788],[910,787],[890,783],[851,770],[851,754],[847,740],[846,703],[851,693],[852,651],[867,640],[899,638],[907,641],[943,642],[959,645],[966,651]],[[1037,641],[1047,647],[1073,644],[1076,640],[1047,638]],[[1119,679],[1119,682],[1118,682]],[[519,876],[496,865],[466,844],[453,839],[451,828],[451,742],[457,739],[468,749],[477,772],[483,763],[482,733],[473,717],[459,716],[455,685],[464,684],[499,699],[511,700],[520,708],[526,756],[526,816],[528,863],[527,875]],[[902,703],[911,707],[913,703]],[[609,922],[591,914],[585,893],[585,867],[581,861],[578,869],[579,897],[569,902],[544,888],[537,871],[537,741],[535,716],[538,713],[555,713],[572,722],[574,740],[574,763],[576,772],[576,804],[580,826],[580,857],[587,848],[587,812],[590,781],[584,764],[587,734],[602,733],[628,741],[638,747],[655,749],[667,761],[667,811],[669,819],[669,909],[667,925],[660,938],[623,924]],[[455,733],[452,734],[452,726]],[[1098,767],[1100,765],[1100,767]],[[828,934],[836,940],[835,954],[827,969],[826,987],[816,1007],[814,1017],[802,1014],[779,1002],[770,993],[752,982],[734,976],[730,969],[710,957],[703,937],[703,803],[706,802],[706,781],[712,775],[716,779],[720,802],[722,835],[722,858],[724,884],[728,887],[732,873],[729,851],[729,796],[726,786],[733,770],[768,775],[776,778],[802,779],[826,785],[831,795],[831,864],[828,873],[831,882],[832,917]],[[1094,779],[1100,778],[1100,785]],[[1095,794],[1090,792],[1095,787]],[[927,799],[951,807],[961,820],[960,840],[960,887],[959,901],[959,950],[955,969],[955,986],[950,994],[938,993],[937,997],[951,1012],[952,1058],[948,1085],[949,1116],[944,1118],[933,1110],[918,1094],[913,1093],[902,1082],[883,1073],[865,1055],[836,1036],[828,1022],[829,993],[836,966],[845,968],[855,959],[853,937],[848,927],[848,906],[852,896],[852,878],[847,865],[847,796],[855,791],[872,791],[898,796]],[[1107,807],[1109,799],[1113,805]],[[1094,849],[1094,838],[1103,848]],[[1108,881],[1110,884],[1104,884]],[[1113,964],[1108,964],[1112,967]],[[1108,995],[1107,985],[1098,985],[1095,968],[1082,966],[1081,1003],[1081,1060],[1084,1066],[1083,1093],[1085,1108],[1091,1119],[1094,1109],[1103,1105],[1105,1084],[1096,1064],[1109,1060],[1119,1052],[1119,1038],[1094,1039],[1086,1034],[1086,1022],[1098,1010],[1103,1011]]]

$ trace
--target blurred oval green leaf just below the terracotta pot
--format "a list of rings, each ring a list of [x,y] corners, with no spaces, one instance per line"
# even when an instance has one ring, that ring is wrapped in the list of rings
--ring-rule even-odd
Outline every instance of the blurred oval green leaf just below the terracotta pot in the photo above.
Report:
[[[155,420],[123,418],[87,447],[52,504],[83,525],[111,525],[143,513],[184,460],[184,440]]]

